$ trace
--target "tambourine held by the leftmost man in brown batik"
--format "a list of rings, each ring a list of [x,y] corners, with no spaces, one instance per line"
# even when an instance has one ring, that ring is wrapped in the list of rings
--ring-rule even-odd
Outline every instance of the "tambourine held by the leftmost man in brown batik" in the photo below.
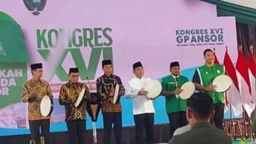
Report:
[[[48,95],[45,95],[44,97],[42,97],[42,100],[40,103],[40,111],[42,116],[51,115],[52,109],[53,109],[52,99]]]

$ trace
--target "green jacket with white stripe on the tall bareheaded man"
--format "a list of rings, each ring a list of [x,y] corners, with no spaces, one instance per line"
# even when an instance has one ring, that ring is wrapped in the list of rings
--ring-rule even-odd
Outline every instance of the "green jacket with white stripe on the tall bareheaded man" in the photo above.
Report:
[[[215,64],[212,67],[208,67],[207,65],[203,65],[196,69],[196,72],[193,76],[193,83],[199,83],[203,87],[207,87],[214,81],[215,77],[219,75],[224,75],[225,68],[223,65]],[[216,92],[210,91],[207,92],[208,95],[211,96],[214,103],[225,103],[225,95],[224,92]]]

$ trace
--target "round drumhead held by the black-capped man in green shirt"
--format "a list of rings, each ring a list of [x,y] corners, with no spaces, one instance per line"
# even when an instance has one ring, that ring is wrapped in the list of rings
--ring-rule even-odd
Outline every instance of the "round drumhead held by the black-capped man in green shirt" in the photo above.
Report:
[[[190,98],[196,90],[195,84],[193,84],[192,82],[184,83],[180,89],[183,89],[183,92],[179,94],[181,99]]]

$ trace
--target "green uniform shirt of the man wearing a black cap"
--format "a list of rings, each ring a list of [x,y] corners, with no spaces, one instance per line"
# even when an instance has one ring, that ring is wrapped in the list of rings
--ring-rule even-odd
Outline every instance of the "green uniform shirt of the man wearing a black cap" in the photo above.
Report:
[[[162,79],[162,91],[174,91],[177,87],[181,87],[188,81],[185,76],[179,76],[176,86],[176,80],[172,75],[166,76]],[[176,98],[176,95],[165,96],[165,108],[167,114],[179,111],[186,111],[187,100]]]

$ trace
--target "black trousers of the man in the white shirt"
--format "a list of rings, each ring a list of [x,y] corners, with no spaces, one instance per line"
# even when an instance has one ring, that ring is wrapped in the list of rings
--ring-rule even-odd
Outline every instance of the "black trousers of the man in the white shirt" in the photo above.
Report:
[[[143,130],[146,129],[146,143],[153,143],[154,113],[134,115],[136,144],[143,142]]]

